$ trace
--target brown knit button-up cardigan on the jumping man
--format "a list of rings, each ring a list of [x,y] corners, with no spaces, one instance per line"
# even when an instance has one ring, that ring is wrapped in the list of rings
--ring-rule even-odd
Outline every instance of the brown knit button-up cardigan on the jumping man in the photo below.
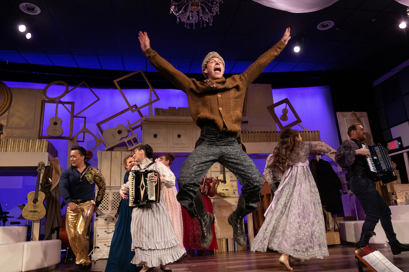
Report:
[[[241,112],[248,85],[283,51],[284,47],[285,43],[280,40],[239,75],[200,82],[188,78],[152,48],[148,48],[144,53],[158,72],[187,94],[190,113],[198,127],[214,124],[220,131],[229,131],[239,136]]]

